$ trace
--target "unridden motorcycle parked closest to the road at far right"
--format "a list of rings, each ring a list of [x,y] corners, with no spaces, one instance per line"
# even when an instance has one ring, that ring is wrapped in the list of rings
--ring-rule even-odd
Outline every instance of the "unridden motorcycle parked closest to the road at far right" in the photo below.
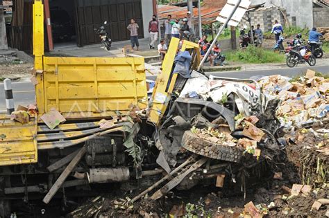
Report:
[[[300,51],[292,49],[289,53],[286,53],[286,55],[286,64],[289,67],[294,67],[305,62],[310,66],[314,66],[317,63],[314,55],[312,55],[312,52],[310,51],[310,47],[308,46],[301,46]]]

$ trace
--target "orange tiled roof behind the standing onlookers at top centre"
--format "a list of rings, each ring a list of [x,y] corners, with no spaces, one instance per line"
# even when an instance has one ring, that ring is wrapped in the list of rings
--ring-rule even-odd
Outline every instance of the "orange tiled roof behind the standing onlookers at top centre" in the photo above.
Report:
[[[201,7],[201,19],[203,24],[210,24],[216,21],[216,17],[219,15],[221,8],[203,8]],[[169,6],[162,5],[159,6],[159,18],[165,19],[168,15],[172,18],[183,18],[186,16],[187,7]],[[197,21],[199,12],[198,8],[193,8],[193,14],[195,21]]]

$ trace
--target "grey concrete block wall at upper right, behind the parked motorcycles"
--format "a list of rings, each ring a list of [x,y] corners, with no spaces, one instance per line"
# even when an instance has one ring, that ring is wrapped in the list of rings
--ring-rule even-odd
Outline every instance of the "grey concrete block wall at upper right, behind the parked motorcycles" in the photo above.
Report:
[[[251,4],[264,3],[265,7],[278,6],[284,8],[287,12],[287,17],[290,24],[295,23],[301,28],[313,27],[313,2],[312,0],[251,0]]]

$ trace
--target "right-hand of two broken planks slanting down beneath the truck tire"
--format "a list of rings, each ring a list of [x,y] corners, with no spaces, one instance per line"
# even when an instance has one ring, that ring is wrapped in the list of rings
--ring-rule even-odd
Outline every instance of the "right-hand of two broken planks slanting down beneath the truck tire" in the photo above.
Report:
[[[183,181],[183,179],[188,174],[190,174],[194,170],[198,170],[207,160],[208,160],[208,158],[202,158],[199,161],[196,161],[196,163],[192,164],[192,166],[189,167],[185,172],[183,172],[182,174],[179,174],[174,179],[171,179],[171,181],[169,181],[169,183],[167,183],[162,188],[160,188],[158,191],[156,191],[151,196],[151,199],[152,200],[160,199],[160,197],[162,197],[164,194],[169,192],[171,189],[175,188],[181,181]]]

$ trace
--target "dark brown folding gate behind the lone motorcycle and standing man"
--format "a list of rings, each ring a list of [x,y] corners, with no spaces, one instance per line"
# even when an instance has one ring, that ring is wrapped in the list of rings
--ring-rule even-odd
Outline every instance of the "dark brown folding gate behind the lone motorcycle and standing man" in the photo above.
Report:
[[[94,28],[108,21],[106,30],[112,41],[129,39],[127,26],[135,19],[140,26],[139,37],[144,37],[141,0],[76,0],[78,46],[100,43]]]

